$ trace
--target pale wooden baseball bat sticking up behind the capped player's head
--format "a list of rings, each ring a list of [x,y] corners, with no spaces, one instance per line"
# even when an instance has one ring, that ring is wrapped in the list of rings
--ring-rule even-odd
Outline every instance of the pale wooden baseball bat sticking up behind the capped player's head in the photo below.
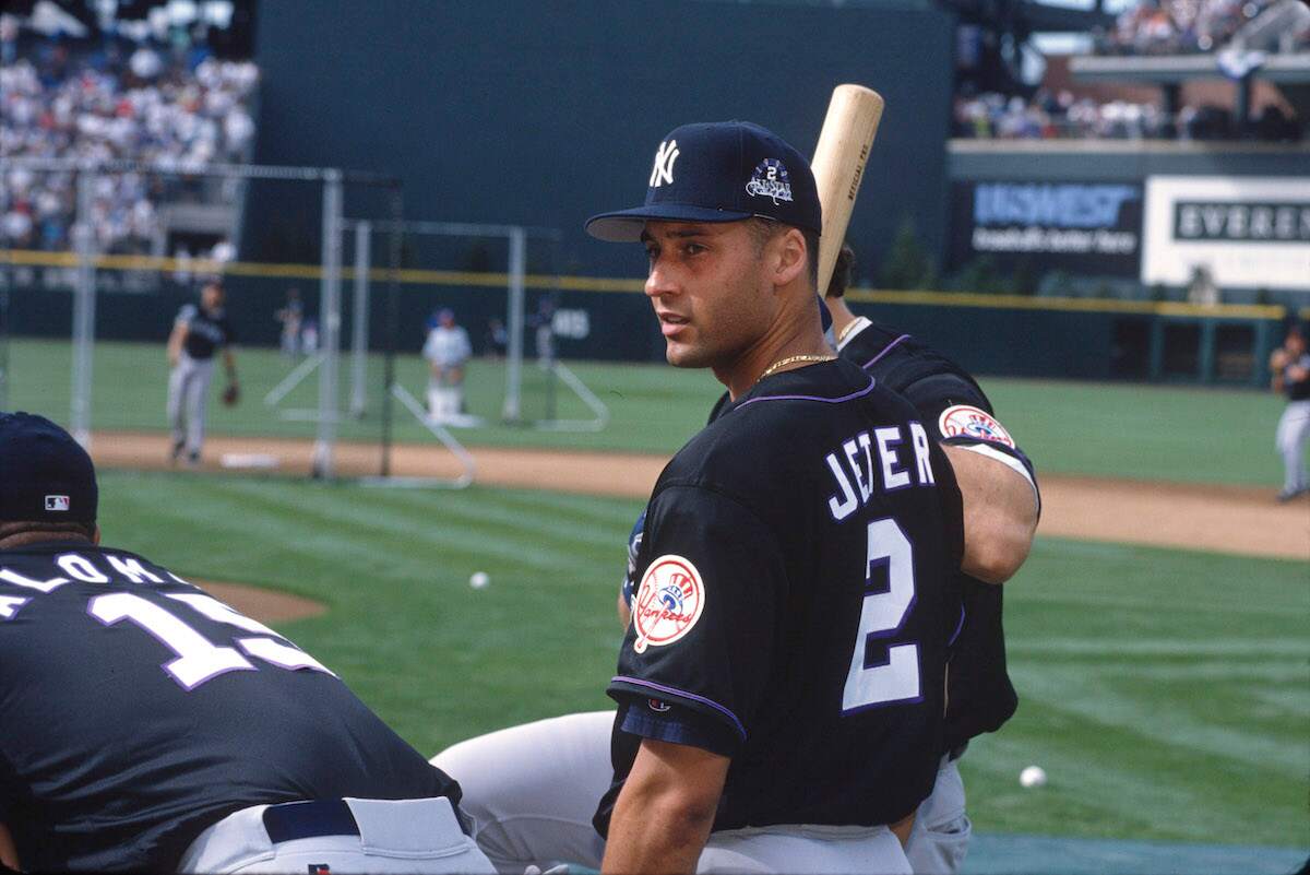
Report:
[[[846,238],[850,212],[855,208],[865,164],[883,118],[882,96],[863,85],[838,85],[828,102],[828,117],[815,147],[814,170],[823,204],[823,236],[819,241],[819,296],[832,279],[837,253]]]

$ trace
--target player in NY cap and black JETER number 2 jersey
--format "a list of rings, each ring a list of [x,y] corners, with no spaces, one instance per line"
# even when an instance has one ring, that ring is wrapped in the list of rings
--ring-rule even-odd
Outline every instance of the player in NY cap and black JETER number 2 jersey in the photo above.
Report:
[[[913,409],[824,342],[820,227],[806,160],[740,122],[671,132],[645,206],[587,225],[646,245],[668,362],[732,397],[647,506],[603,871],[910,871],[962,511]]]

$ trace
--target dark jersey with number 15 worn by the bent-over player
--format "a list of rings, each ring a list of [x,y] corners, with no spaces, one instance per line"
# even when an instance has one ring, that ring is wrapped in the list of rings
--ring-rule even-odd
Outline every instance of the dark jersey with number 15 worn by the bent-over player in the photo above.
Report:
[[[29,871],[172,871],[254,804],[460,790],[326,667],[168,570],[0,551],[0,823]]]

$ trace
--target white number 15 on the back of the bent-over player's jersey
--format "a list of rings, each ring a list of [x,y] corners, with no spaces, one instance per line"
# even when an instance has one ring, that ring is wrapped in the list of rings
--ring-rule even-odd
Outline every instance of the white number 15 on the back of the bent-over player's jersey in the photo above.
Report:
[[[310,668],[333,675],[318,660],[291,644],[283,644],[274,638],[278,633],[261,622],[250,620],[210,596],[199,593],[169,595],[169,599],[185,604],[195,612],[216,622],[262,633],[259,637],[237,638],[237,646],[249,656],[262,659],[278,668]],[[183,621],[153,601],[130,592],[114,592],[96,596],[86,605],[86,612],[106,626],[128,620],[151,633],[161,644],[177,654],[177,659],[164,663],[164,671],[185,690],[193,690],[207,680],[227,672],[255,671],[255,667],[242,656],[236,647],[220,647]],[[333,675],[335,677],[335,675]]]

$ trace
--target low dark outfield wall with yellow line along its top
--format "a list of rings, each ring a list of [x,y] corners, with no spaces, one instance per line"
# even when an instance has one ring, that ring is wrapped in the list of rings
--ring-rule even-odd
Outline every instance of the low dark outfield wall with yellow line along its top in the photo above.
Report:
[[[18,335],[69,337],[72,296],[60,288],[69,270],[56,253],[8,253],[9,330]],[[128,259],[130,261],[130,259]],[[140,259],[149,262],[151,259]],[[17,263],[16,263],[17,262]],[[0,262],[3,263],[3,262]],[[124,259],[102,259],[98,271],[97,337],[153,341],[162,350],[178,308],[193,300],[189,284],[156,276],[153,291],[134,291],[124,282],[132,271]],[[157,269],[166,270],[169,259]],[[229,310],[241,342],[275,346],[279,324],[274,312],[286,289],[314,288],[313,265],[228,265]],[[140,271],[136,271],[140,279]],[[343,280],[350,283],[352,271]],[[504,320],[504,274],[405,270],[400,274],[396,348],[417,354],[426,322],[438,307],[455,309],[469,330],[474,348],[487,351],[487,326]],[[372,275],[369,347],[386,348],[385,272]],[[639,279],[590,276],[527,278],[529,322],[545,299],[555,303],[557,348],[565,359],[660,360],[664,341],[641,293]],[[314,313],[312,295],[307,312]],[[347,296],[348,297],[348,296]],[[1264,385],[1264,362],[1281,339],[1282,307],[1224,305],[1214,308],[1148,301],[1019,297],[947,292],[876,292],[852,289],[857,312],[896,325],[931,342],[971,371],[996,376],[1085,380],[1178,380]],[[1302,312],[1310,317],[1310,312]],[[345,314],[343,337],[351,316]],[[534,350],[532,327],[524,338]],[[162,352],[161,352],[162,355]]]

